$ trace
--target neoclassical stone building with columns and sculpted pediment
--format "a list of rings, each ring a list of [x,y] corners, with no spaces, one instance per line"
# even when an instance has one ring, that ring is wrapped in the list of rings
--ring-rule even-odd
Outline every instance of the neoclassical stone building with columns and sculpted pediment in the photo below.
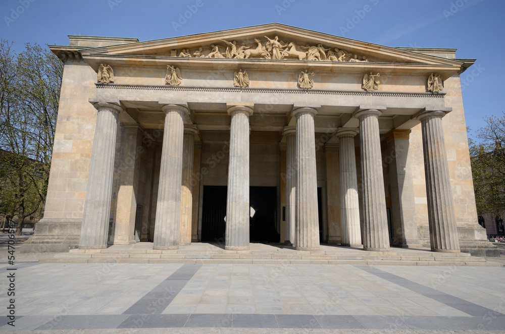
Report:
[[[69,36],[44,218],[24,251],[153,242],[431,247],[477,223],[455,49],[281,24]]]

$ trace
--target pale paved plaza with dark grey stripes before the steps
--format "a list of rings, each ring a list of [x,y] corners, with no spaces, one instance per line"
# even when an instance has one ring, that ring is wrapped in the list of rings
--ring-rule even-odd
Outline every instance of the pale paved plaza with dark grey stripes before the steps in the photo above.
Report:
[[[4,252],[4,251],[3,251]],[[12,266],[1,264],[6,273]],[[18,262],[16,332],[505,328],[503,267]],[[85,329],[81,331],[79,329]],[[159,330],[159,331],[158,331]],[[472,332],[473,332],[472,331]],[[463,331],[462,331],[463,332]]]

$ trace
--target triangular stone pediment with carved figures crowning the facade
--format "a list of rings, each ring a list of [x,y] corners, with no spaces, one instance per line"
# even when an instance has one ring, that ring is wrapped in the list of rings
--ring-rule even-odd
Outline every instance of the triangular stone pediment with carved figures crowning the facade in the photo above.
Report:
[[[277,40],[275,38],[277,37]],[[232,43],[234,46],[227,44]],[[392,63],[444,65],[458,69],[462,63],[410,50],[348,39],[278,23],[196,35],[132,42],[81,49],[82,57],[124,55],[175,57],[198,62],[216,60],[271,59],[284,61],[349,63]],[[279,59],[280,58],[280,59]],[[322,65],[322,64],[321,64]],[[455,71],[456,72],[456,71]]]

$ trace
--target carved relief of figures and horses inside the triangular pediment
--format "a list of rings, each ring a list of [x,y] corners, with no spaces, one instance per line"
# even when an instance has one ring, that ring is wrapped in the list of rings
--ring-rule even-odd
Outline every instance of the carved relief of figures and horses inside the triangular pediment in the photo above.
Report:
[[[283,42],[278,36],[266,41],[255,38],[255,43],[245,45],[236,40],[220,39],[226,46],[210,44],[190,51],[189,49],[171,50],[171,56],[193,58],[236,58],[248,59],[259,57],[262,59],[298,59],[323,62],[369,62],[365,55],[358,55],[339,48],[325,47],[322,43],[317,45],[298,45],[294,41]]]

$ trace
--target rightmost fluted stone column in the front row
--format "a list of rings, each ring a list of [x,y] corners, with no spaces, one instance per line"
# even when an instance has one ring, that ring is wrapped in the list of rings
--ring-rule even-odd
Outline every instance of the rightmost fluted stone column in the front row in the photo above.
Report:
[[[418,116],[423,133],[424,172],[428,197],[431,250],[460,252],[449,166],[445,152],[442,117],[445,112],[424,112]]]

